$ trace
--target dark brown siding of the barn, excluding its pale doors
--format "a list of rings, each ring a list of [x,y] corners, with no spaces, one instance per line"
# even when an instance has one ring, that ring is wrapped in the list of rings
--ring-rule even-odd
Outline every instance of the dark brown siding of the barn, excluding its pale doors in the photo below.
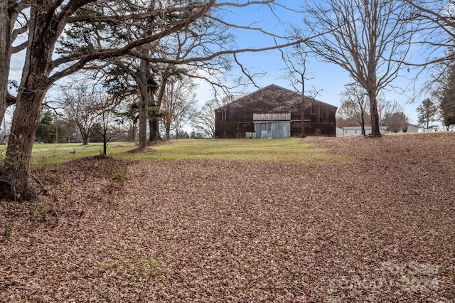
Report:
[[[305,134],[335,136],[336,107],[306,98]],[[301,134],[301,95],[277,85],[269,85],[215,110],[215,137],[244,138],[254,132],[254,113],[291,113],[291,137]]]

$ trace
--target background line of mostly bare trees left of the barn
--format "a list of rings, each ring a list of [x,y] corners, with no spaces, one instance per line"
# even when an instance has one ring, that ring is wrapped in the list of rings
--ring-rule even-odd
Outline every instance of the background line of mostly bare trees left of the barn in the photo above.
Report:
[[[210,105],[218,107],[220,102],[210,100],[198,109],[194,88],[185,83],[173,83],[166,88],[168,92],[159,109],[160,138],[214,137],[214,108],[205,108]],[[112,95],[87,91],[83,87],[65,90],[61,95],[61,100],[43,106],[35,142],[77,142],[86,145],[89,142],[137,141],[139,97],[118,102]],[[150,113],[149,119],[153,119],[154,115],[156,113]],[[183,129],[185,126],[191,127],[192,131],[188,133]],[[154,141],[151,134],[149,141]]]

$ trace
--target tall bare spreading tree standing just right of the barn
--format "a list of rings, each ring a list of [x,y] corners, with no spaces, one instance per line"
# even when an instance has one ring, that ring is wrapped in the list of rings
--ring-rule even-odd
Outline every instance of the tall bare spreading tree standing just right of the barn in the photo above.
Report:
[[[372,136],[379,137],[377,97],[395,80],[411,46],[410,6],[388,0],[308,1],[304,24],[325,33],[306,44],[322,60],[348,71],[370,100]],[[304,33],[304,31],[300,31]]]

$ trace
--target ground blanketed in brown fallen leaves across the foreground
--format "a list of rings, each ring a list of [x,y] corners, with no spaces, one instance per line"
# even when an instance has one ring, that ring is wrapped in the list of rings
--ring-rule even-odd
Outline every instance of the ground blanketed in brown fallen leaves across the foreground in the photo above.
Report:
[[[0,302],[454,302],[455,135],[351,161],[73,161],[0,203]]]

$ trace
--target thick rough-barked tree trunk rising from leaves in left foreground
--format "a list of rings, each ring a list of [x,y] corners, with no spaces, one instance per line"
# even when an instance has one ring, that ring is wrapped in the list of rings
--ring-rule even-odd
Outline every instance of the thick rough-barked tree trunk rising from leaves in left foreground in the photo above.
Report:
[[[48,76],[56,37],[60,33],[48,31],[47,3],[32,6],[28,48],[22,70],[21,86],[16,98],[5,164],[1,169],[0,194],[6,198],[31,200],[36,191],[31,181],[31,151],[36,127],[41,116],[41,104],[49,88]],[[1,21],[0,21],[1,22]],[[33,46],[30,47],[30,46]]]

